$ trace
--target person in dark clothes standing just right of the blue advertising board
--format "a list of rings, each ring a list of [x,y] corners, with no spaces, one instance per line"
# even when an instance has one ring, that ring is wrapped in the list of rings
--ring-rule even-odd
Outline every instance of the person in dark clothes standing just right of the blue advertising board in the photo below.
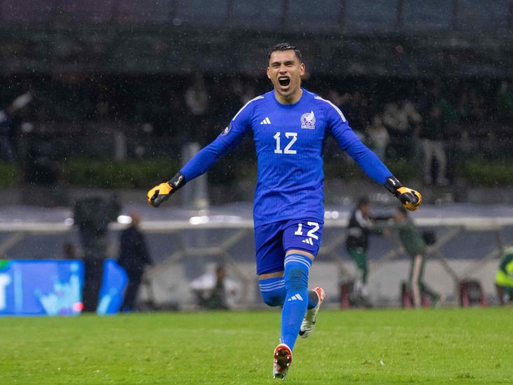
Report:
[[[144,234],[139,230],[141,217],[137,213],[132,213],[132,224],[121,232],[119,238],[119,258],[118,264],[125,269],[128,275],[128,286],[125,290],[122,311],[132,311],[134,309],[137,290],[141,285],[142,275],[146,265],[152,265],[153,262],[146,248]]]

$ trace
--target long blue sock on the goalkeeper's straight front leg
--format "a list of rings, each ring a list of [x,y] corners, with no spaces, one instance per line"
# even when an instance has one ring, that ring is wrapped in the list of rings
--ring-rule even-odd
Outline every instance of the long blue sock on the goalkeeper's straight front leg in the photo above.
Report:
[[[282,310],[281,341],[294,349],[301,322],[308,306],[308,271],[312,260],[305,255],[289,254],[285,258],[285,289]]]

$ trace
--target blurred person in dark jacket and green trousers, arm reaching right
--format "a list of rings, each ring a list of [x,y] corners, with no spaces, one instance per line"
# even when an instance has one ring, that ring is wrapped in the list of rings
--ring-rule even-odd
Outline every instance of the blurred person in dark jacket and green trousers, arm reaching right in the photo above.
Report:
[[[354,294],[357,301],[364,305],[369,305],[369,293],[367,292],[369,236],[371,234],[381,234],[381,230],[376,227],[375,221],[385,219],[390,219],[390,217],[371,216],[371,205],[367,197],[360,198],[349,219],[346,250],[348,250],[360,272],[360,276],[355,281]]]

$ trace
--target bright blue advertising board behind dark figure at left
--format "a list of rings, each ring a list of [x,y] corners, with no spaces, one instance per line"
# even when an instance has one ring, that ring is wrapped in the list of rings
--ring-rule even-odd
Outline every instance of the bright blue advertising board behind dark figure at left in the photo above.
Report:
[[[84,268],[76,260],[0,260],[0,316],[74,316],[81,313]],[[114,259],[104,262],[98,314],[115,314],[128,277]]]

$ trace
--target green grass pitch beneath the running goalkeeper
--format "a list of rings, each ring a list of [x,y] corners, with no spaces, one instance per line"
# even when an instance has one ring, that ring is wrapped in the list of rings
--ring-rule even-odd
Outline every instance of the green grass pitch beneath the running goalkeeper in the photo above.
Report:
[[[278,311],[0,318],[0,384],[273,384]],[[513,309],[321,311],[290,384],[513,384]],[[278,380],[276,380],[278,381]]]

